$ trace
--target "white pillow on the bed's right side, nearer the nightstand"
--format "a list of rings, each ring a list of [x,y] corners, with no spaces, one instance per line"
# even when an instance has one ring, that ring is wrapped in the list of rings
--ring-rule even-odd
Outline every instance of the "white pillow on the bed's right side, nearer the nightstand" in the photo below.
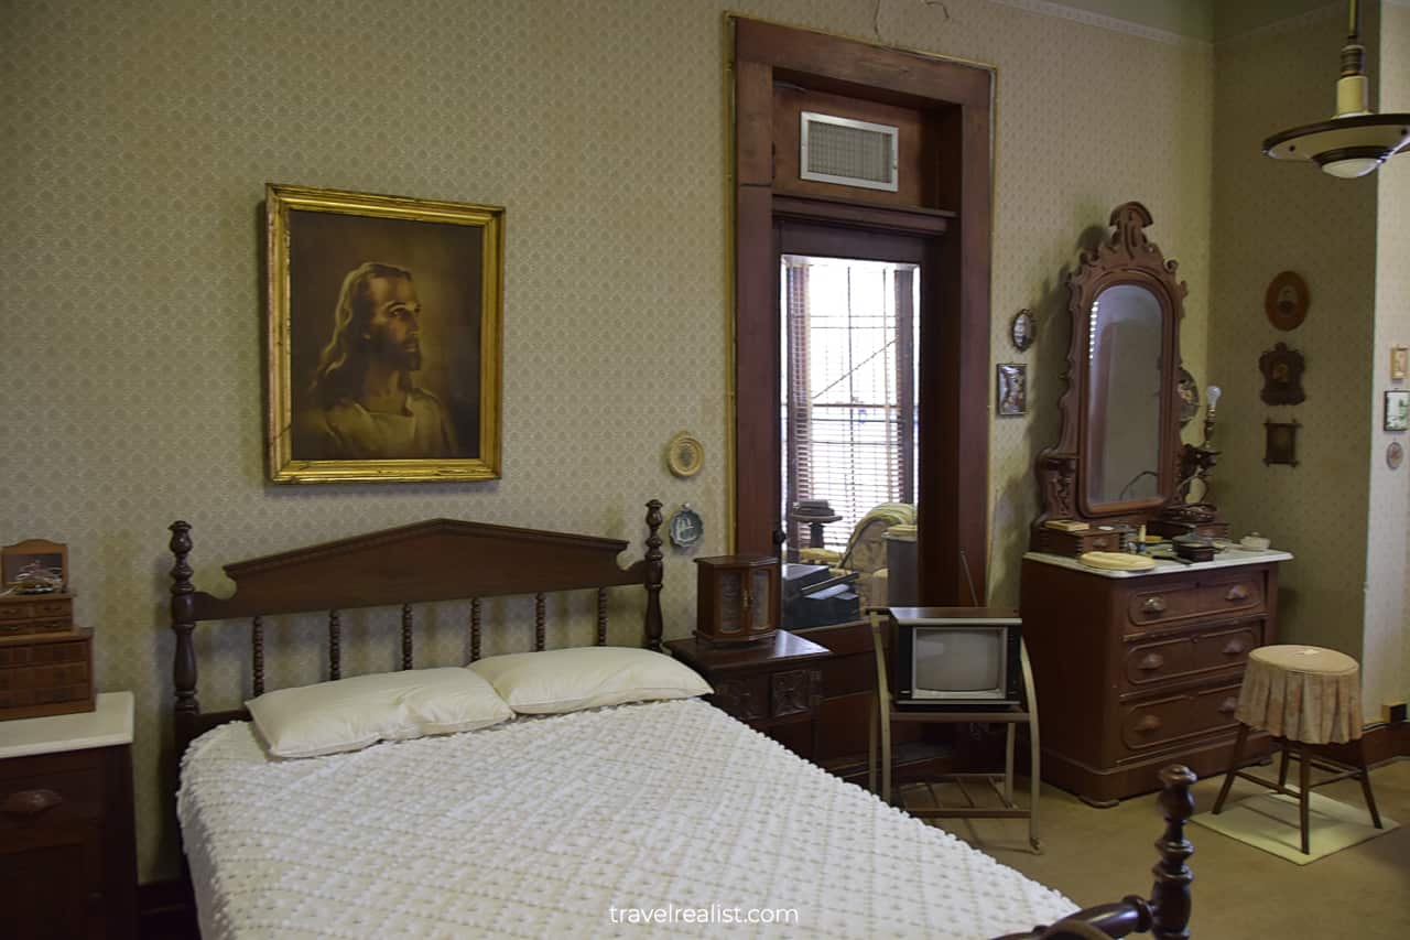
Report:
[[[491,656],[468,666],[520,714],[689,699],[713,689],[684,663],[634,646],[577,646]]]

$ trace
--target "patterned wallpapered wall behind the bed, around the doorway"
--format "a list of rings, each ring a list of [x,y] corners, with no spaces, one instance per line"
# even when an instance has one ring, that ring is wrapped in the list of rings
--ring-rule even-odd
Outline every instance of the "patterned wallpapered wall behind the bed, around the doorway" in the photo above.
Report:
[[[159,759],[172,519],[207,590],[226,562],[436,515],[615,535],[634,556],[651,497],[702,514],[698,552],[725,548],[725,8],[407,0],[388,30],[371,0],[6,4],[0,541],[69,543],[99,686],[137,694],[144,881],[178,861]],[[994,596],[1017,603],[1032,459],[1058,435],[1062,277],[1120,202],[1145,202],[1180,261],[1186,361],[1210,377],[1214,54],[986,0],[729,8],[998,66],[993,357],[1029,364],[1031,414],[994,422],[990,484]],[[265,483],[266,181],[506,206],[503,480]],[[1024,306],[1038,343],[1018,354]],[[680,429],[706,449],[688,481],[663,460]],[[687,634],[677,550],[664,601]],[[378,615],[348,625],[350,670],[393,663],[358,641]],[[433,611],[420,662],[460,658],[455,617]],[[272,685],[319,677],[314,624],[269,632]],[[197,644],[212,709],[238,701],[248,661],[243,631],[216,634]]]

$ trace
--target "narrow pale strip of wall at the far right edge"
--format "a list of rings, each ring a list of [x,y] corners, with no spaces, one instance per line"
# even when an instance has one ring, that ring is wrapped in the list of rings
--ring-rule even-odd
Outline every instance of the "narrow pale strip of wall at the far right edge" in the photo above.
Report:
[[[1410,110],[1410,4],[1380,8],[1379,110]],[[1383,430],[1383,392],[1407,388],[1390,381],[1390,347],[1410,346],[1410,158],[1397,157],[1376,174],[1376,333],[1371,357],[1371,504],[1366,535],[1368,720],[1386,699],[1410,694],[1410,467],[1386,466],[1386,446],[1410,446],[1410,435]]]

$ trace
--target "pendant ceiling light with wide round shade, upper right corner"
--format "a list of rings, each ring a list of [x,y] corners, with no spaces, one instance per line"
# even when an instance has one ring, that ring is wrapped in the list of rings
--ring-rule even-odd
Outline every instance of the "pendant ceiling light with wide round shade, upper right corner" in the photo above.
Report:
[[[1361,7],[1351,0],[1347,44],[1341,47],[1335,117],[1273,134],[1263,141],[1263,152],[1273,159],[1310,159],[1324,174],[1354,179],[1375,172],[1380,164],[1410,148],[1410,114],[1376,114],[1371,110],[1366,75],[1361,71],[1365,55]]]

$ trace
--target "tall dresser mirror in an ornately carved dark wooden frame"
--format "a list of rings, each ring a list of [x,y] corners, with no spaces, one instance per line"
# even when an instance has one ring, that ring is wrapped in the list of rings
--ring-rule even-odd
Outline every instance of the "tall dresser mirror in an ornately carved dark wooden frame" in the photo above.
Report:
[[[1110,224],[1067,277],[1069,385],[1062,435],[1038,457],[1036,548],[1048,519],[1139,525],[1177,498],[1186,285],[1146,239],[1145,206],[1117,206]]]

